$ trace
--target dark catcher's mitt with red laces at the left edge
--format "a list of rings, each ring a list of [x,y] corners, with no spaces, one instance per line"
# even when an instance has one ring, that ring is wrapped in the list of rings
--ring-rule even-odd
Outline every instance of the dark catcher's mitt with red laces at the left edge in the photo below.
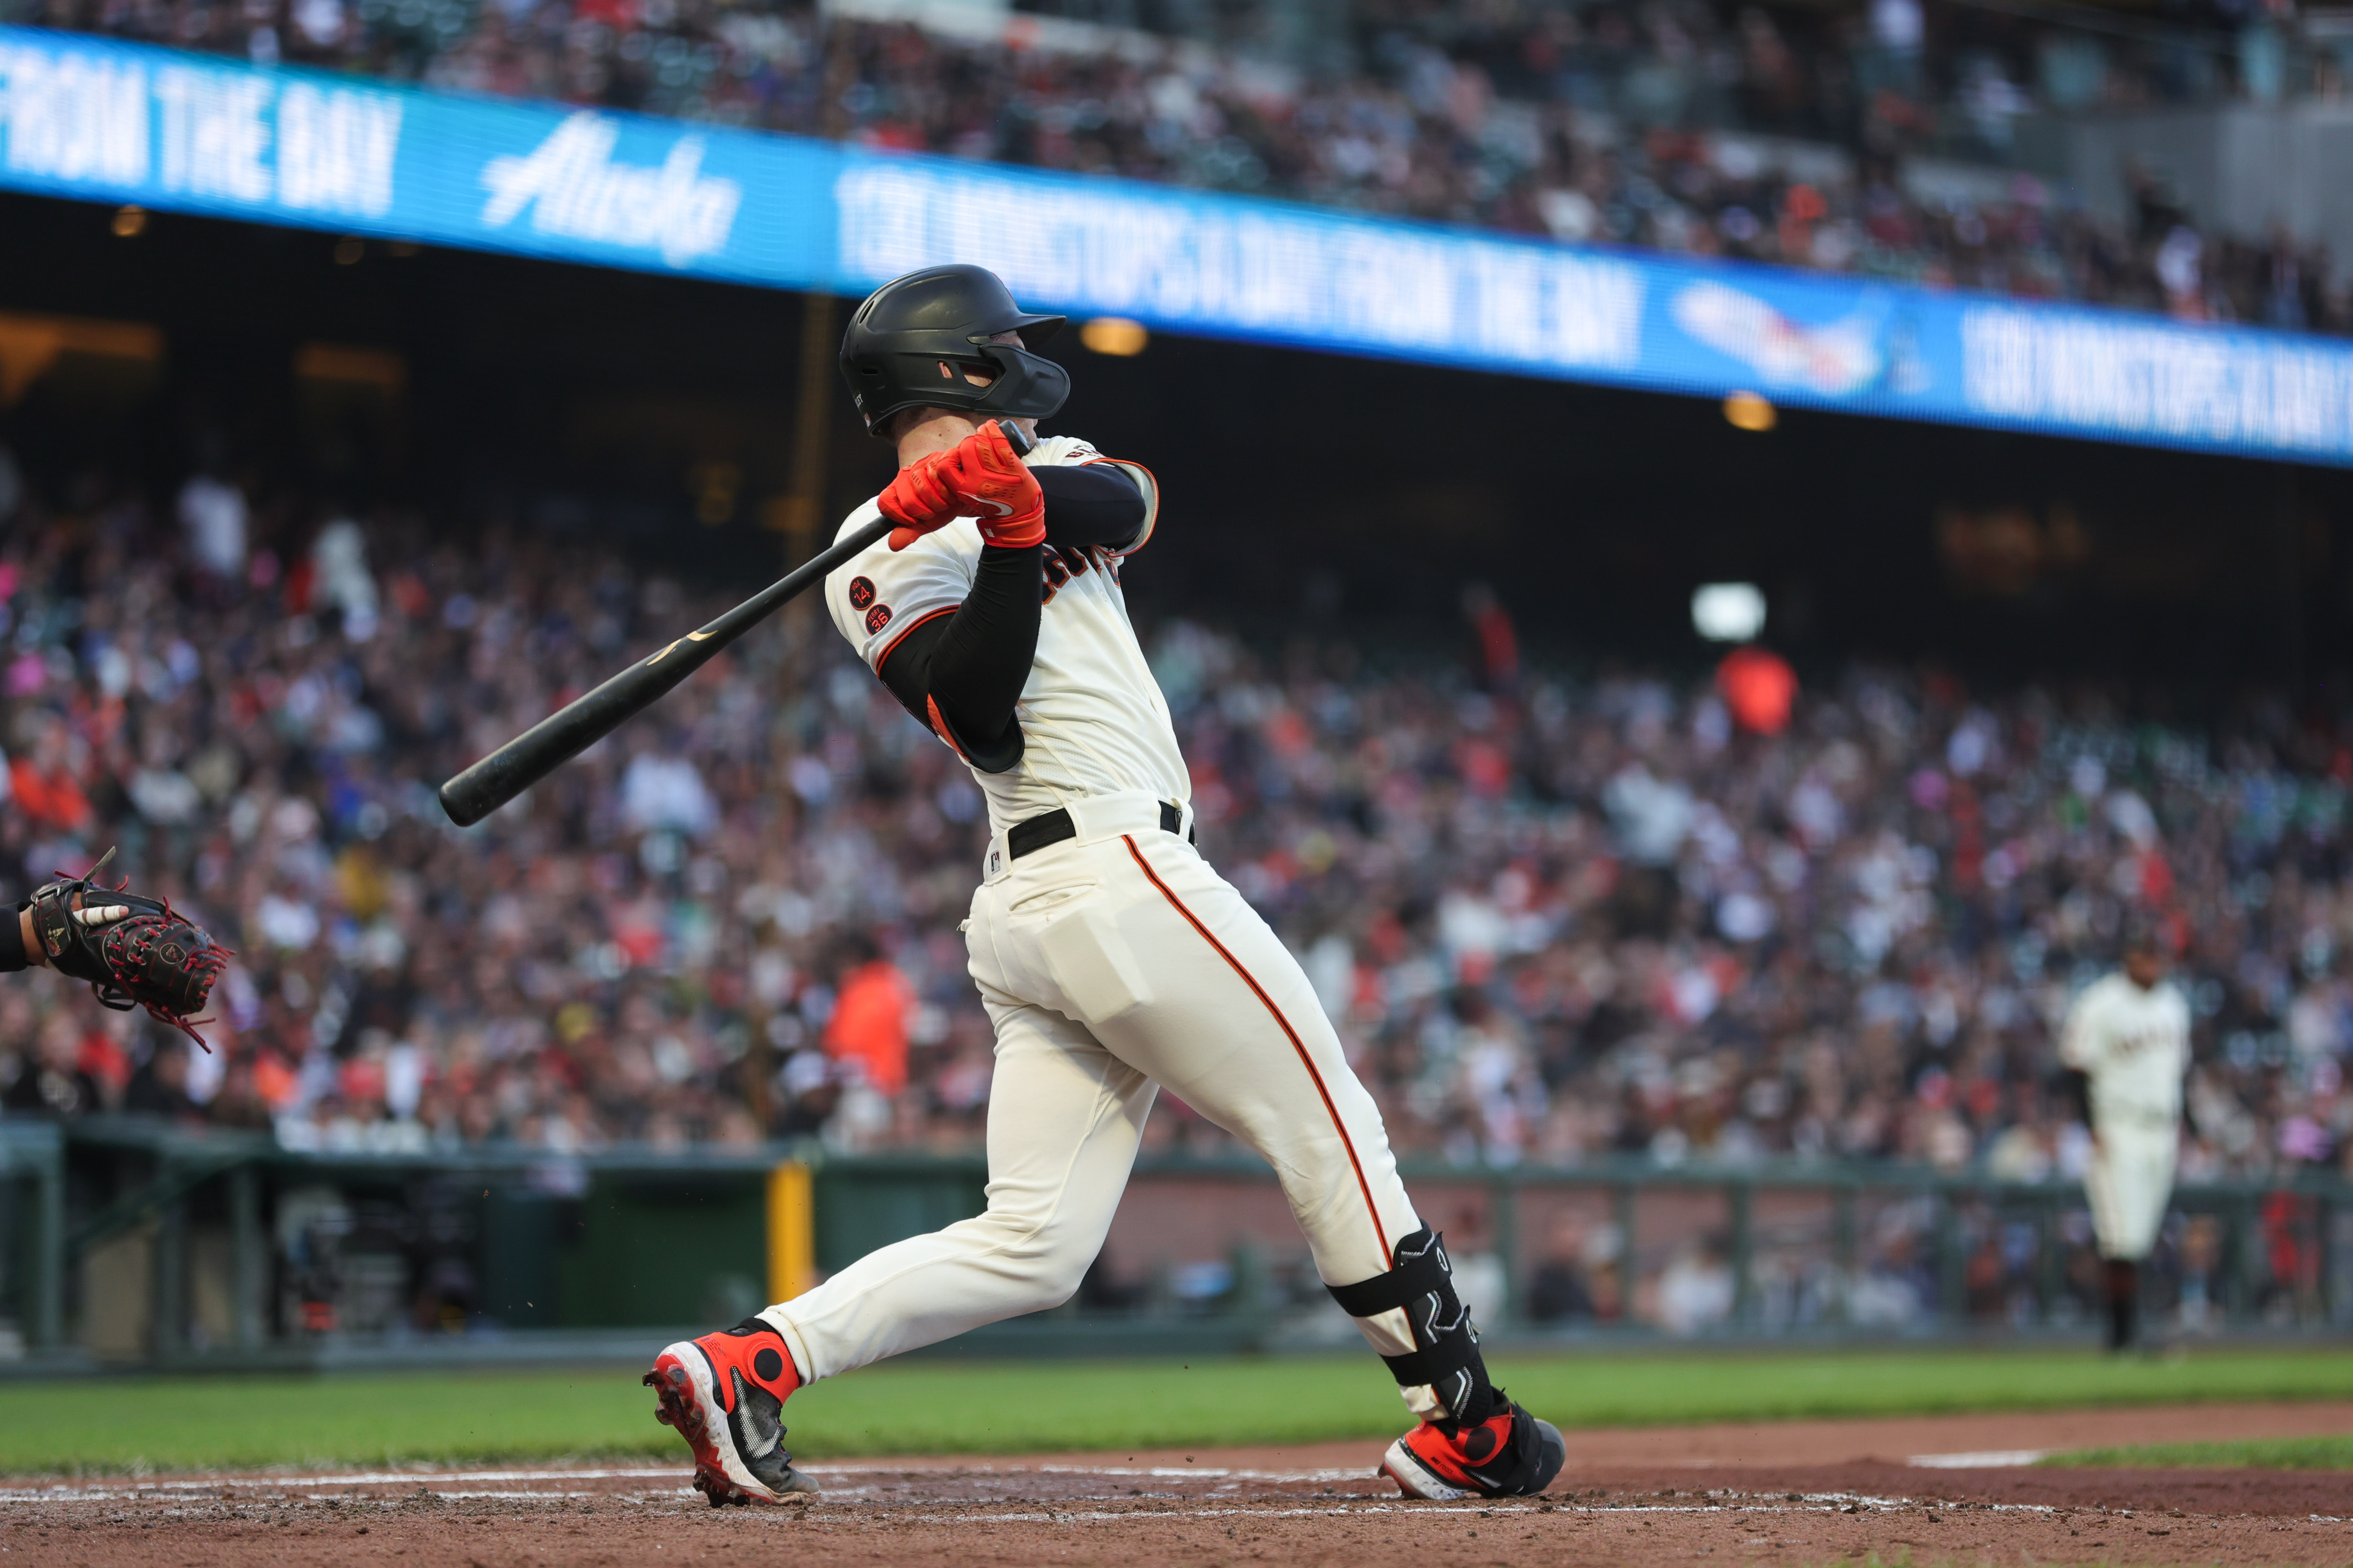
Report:
[[[40,936],[49,966],[89,980],[99,1004],[118,1013],[144,1006],[212,1051],[195,1032],[195,1025],[212,1020],[195,1013],[205,1011],[212,983],[228,966],[228,947],[174,914],[167,898],[125,893],[127,879],[118,889],[96,882],[113,858],[115,851],[108,849],[87,875],[56,872],[56,882],[33,893],[33,933]]]

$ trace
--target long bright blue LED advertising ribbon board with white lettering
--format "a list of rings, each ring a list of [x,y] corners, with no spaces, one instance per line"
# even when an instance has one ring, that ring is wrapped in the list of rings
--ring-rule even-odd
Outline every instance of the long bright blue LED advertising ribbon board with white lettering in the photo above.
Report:
[[[784,289],[976,261],[1033,308],[1464,369],[2353,465],[2353,343],[0,28],[0,188]]]

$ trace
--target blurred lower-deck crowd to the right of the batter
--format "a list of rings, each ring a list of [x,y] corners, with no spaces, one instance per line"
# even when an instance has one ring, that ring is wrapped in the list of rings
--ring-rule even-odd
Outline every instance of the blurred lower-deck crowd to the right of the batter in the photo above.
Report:
[[[1889,670],[1765,738],[1713,689],[1487,668],[1160,639],[1217,858],[1400,1145],[2071,1173],[2052,1041],[2155,910],[2200,1020],[2186,1168],[2341,1157],[2353,755]]]

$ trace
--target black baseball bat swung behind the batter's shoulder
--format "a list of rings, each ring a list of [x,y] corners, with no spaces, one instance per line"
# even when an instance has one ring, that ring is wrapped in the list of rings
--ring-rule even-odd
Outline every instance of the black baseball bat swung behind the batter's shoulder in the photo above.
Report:
[[[1005,433],[1005,440],[1016,454],[1028,456],[1035,442],[1021,433],[1021,425],[1009,418],[1000,418],[998,428]],[[616,731],[626,719],[652,708],[654,701],[659,701],[671,686],[711,663],[713,654],[767,621],[776,614],[776,609],[812,583],[821,583],[835,567],[854,555],[861,555],[868,545],[889,534],[892,527],[889,517],[868,522],[856,534],[835,541],[807,564],[788,571],[784,578],[744,599],[704,630],[687,632],[654,656],[621,670],[595,691],[572,698],[539,724],[532,724],[489,757],[482,757],[471,769],[445,783],[440,788],[442,811],[447,811],[449,820],[459,827],[473,827],[485,816]]]

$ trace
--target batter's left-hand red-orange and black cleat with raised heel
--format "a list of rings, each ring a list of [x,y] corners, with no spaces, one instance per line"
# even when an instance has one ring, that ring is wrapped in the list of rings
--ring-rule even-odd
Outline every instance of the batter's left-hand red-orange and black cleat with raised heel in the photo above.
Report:
[[[694,1488],[711,1507],[816,1493],[816,1481],[793,1469],[784,1450],[784,1401],[800,1387],[800,1371],[769,1324],[748,1316],[666,1347],[645,1387],[661,1401],[654,1420],[678,1427],[694,1448]]]

